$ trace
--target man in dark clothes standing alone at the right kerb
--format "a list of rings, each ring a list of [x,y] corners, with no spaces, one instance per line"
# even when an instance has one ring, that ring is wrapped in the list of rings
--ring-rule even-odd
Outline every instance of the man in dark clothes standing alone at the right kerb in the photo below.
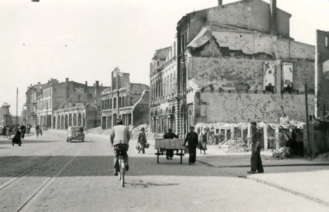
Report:
[[[257,129],[257,123],[251,122],[251,170],[247,173],[249,174],[255,174],[256,170],[257,173],[264,173],[262,159],[260,157],[260,151],[261,151],[261,133],[259,129]]]

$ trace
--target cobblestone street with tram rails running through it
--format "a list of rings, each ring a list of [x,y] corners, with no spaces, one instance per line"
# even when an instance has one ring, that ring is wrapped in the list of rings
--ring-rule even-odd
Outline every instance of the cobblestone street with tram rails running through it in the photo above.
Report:
[[[238,176],[246,168],[157,164],[155,150],[131,142],[126,187],[113,176],[113,150],[102,135],[66,143],[64,131],[0,140],[0,212],[326,212],[328,207]],[[273,167],[271,169],[274,169]],[[285,168],[287,169],[287,168]]]

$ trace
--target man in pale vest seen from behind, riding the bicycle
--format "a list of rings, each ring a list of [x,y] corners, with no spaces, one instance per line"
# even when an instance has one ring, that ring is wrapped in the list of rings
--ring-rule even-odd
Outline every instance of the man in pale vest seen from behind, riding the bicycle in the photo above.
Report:
[[[114,175],[118,176],[118,172],[120,172],[120,166],[119,166],[119,151],[118,149],[122,149],[122,155],[125,158],[126,162],[126,171],[129,170],[128,166],[128,148],[129,148],[129,141],[130,141],[130,132],[128,130],[128,127],[122,125],[122,120],[117,120],[117,126],[114,126],[112,128],[111,133],[111,144],[114,146]]]

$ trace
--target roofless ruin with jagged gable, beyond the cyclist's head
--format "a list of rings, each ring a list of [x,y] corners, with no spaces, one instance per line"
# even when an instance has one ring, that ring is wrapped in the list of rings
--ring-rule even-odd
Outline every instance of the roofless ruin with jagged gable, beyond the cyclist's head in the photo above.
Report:
[[[129,76],[118,67],[112,71],[112,88],[101,93],[102,129],[112,128],[117,119],[126,126],[149,123],[150,87],[131,83]]]

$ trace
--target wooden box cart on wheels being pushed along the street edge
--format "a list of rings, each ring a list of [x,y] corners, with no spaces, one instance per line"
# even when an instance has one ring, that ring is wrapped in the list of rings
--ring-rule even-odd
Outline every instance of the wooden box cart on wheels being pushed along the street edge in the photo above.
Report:
[[[176,154],[180,156],[180,163],[183,161],[183,150],[185,150],[184,139],[156,139],[155,149],[158,150],[157,162],[159,164],[159,156],[164,155],[163,150],[180,150],[180,153]]]

